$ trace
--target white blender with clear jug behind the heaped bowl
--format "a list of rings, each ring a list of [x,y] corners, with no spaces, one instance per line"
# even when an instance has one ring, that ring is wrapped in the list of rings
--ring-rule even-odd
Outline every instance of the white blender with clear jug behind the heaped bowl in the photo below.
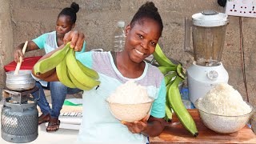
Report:
[[[214,10],[192,15],[192,21],[185,22],[185,51],[194,56],[194,62],[187,71],[189,97],[191,102],[203,97],[218,83],[227,83],[229,75],[222,65],[227,14]],[[192,27],[193,47],[190,48]]]

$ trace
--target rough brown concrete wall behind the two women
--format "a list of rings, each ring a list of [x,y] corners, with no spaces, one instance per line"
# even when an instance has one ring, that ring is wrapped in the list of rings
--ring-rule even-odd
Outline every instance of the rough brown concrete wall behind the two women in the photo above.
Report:
[[[6,65],[12,61],[14,46],[54,30],[58,13],[63,7],[70,6],[71,2],[73,1],[0,0],[0,64],[3,66],[3,64]],[[82,30],[86,34],[87,49],[102,48],[110,50],[111,36],[118,20],[122,19],[126,24],[130,22],[138,7],[146,1],[74,0],[74,2],[77,2],[81,8],[78,12],[75,29]],[[184,68],[187,68],[194,58],[183,50],[184,18],[202,10],[223,12],[223,7],[218,6],[217,0],[154,0],[153,2],[158,7],[164,23],[160,40],[163,51],[168,57],[182,62]],[[230,75],[230,85],[234,86],[246,99],[245,83],[242,75],[239,17],[230,16],[229,20],[222,63]],[[255,22],[256,18],[242,18],[246,82],[250,102],[254,106],[256,106]],[[44,54],[43,51],[38,50],[37,52],[27,53],[26,57],[42,54]],[[4,75],[1,69],[1,87],[5,83]]]

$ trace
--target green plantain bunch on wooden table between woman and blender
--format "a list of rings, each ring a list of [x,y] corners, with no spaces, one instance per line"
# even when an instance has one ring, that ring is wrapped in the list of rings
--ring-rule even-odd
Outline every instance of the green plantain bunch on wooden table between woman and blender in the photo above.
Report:
[[[190,113],[186,110],[182,102],[182,96],[178,89],[180,82],[186,78],[181,64],[174,64],[169,58],[163,54],[159,45],[156,46],[154,51],[154,59],[158,62],[158,69],[164,74],[166,82],[166,122],[170,122],[172,118],[172,110],[177,115],[182,126],[190,131],[194,137],[198,136],[197,126]]]

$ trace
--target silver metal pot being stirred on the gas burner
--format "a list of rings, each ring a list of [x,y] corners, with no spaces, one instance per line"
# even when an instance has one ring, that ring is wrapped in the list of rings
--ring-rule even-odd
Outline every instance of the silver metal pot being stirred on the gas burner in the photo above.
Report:
[[[14,91],[31,90],[35,86],[31,70],[19,70],[18,74],[14,71],[6,72],[6,87]]]

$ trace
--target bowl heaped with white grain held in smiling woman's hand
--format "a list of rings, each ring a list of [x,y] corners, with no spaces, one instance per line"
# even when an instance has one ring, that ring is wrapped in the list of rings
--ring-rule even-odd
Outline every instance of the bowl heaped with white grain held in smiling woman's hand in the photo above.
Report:
[[[144,86],[128,81],[106,99],[110,112],[120,121],[135,122],[150,114],[153,98],[148,97]]]

